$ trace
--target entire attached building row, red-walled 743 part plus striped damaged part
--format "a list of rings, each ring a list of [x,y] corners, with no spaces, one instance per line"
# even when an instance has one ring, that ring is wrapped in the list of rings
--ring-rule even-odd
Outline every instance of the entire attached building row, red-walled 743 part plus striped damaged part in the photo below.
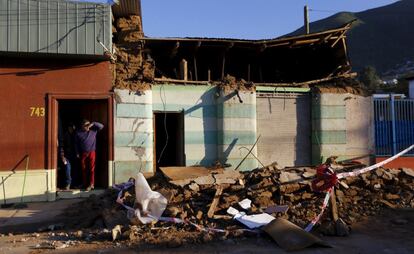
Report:
[[[105,125],[100,189],[163,166],[246,171],[374,154],[349,24],[269,40],[148,38],[139,1],[119,2],[0,1],[5,201],[19,200],[24,183],[26,201],[88,195],[57,183],[59,132],[82,118]]]

